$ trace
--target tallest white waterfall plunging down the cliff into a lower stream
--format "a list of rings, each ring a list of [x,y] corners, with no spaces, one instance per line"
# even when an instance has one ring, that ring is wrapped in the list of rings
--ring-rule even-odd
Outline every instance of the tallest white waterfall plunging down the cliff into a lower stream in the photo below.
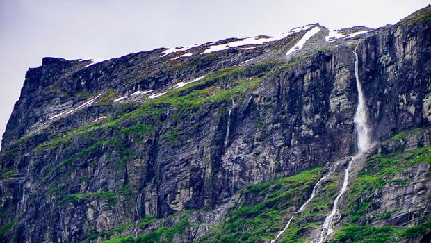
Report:
[[[357,110],[355,112],[355,117],[353,121],[355,121],[355,130],[357,132],[357,149],[358,153],[357,155],[353,156],[352,160],[350,160],[348,167],[345,169],[345,176],[343,180],[343,186],[341,187],[341,191],[338,196],[336,196],[336,199],[334,200],[334,206],[332,207],[332,211],[330,215],[328,215],[325,219],[325,222],[323,223],[322,232],[320,234],[320,239],[318,242],[322,243],[325,238],[328,235],[331,235],[334,230],[332,229],[332,226],[336,221],[339,221],[340,219],[340,213],[339,213],[339,201],[341,199],[341,196],[345,193],[347,190],[348,184],[349,184],[349,172],[352,168],[352,162],[360,158],[361,154],[364,153],[364,151],[367,151],[372,143],[371,143],[371,129],[368,126],[368,112],[366,109],[366,103],[364,99],[364,92],[362,91],[362,85],[359,81],[359,63],[358,63],[358,56],[355,51],[355,78],[356,78],[356,87],[358,92],[358,106]]]

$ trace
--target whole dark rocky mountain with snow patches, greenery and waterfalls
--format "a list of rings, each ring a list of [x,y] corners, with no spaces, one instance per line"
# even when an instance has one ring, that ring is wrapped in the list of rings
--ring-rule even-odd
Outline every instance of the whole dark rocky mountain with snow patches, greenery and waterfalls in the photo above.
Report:
[[[430,242],[431,6],[393,26],[43,58],[1,242]]]

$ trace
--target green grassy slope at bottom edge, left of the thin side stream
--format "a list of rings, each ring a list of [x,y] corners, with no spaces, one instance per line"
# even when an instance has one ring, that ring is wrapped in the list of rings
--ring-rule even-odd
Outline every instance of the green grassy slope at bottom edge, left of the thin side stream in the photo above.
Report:
[[[293,210],[306,200],[322,167],[303,171],[272,182],[250,185],[241,193],[245,199],[237,210],[229,212],[225,221],[211,230],[203,242],[259,242],[270,240],[282,230]],[[257,200],[261,198],[261,200]],[[257,201],[256,201],[257,200]],[[295,206],[295,208],[293,208]],[[303,226],[305,227],[305,226]],[[284,235],[286,242],[301,242],[295,227]]]

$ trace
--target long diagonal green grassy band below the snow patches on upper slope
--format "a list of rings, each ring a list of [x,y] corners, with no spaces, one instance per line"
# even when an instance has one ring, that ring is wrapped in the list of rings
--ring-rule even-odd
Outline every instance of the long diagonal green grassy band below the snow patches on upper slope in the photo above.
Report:
[[[224,100],[231,100],[236,96],[241,97],[253,90],[261,83],[261,78],[241,79],[239,77],[247,77],[265,72],[275,64],[265,64],[253,67],[228,67],[221,69],[218,72],[209,74],[201,81],[190,83],[185,87],[170,90],[167,94],[158,99],[148,99],[140,107],[131,112],[124,112],[117,117],[108,117],[104,121],[86,124],[76,128],[72,128],[65,133],[53,137],[51,140],[38,145],[35,150],[54,149],[61,144],[67,144],[74,139],[80,137],[92,137],[96,131],[115,131],[118,128],[122,133],[131,133],[133,135],[145,135],[156,131],[156,127],[146,124],[138,124],[133,128],[122,128],[124,121],[138,121],[142,117],[156,117],[163,115],[166,108],[179,108],[179,110],[193,110],[199,108],[206,103],[215,103]],[[229,88],[223,89],[217,85],[213,85],[218,81],[229,80]],[[101,101],[107,102],[115,96],[115,92],[111,90],[102,97]],[[152,124],[158,124],[157,121]]]

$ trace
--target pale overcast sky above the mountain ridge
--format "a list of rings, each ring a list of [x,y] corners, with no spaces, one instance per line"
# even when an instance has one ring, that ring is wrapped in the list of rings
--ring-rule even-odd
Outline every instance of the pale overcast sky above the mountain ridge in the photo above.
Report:
[[[320,23],[327,28],[395,24],[425,0],[0,0],[0,134],[29,67],[45,56],[123,56],[277,34]]]

